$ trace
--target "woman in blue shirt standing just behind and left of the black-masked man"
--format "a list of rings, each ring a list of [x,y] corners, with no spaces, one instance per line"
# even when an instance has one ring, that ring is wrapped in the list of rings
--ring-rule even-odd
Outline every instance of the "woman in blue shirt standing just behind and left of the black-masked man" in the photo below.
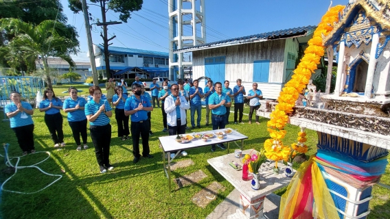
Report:
[[[118,125],[118,137],[124,140],[130,139],[130,131],[128,129],[128,116],[124,114],[124,103],[126,103],[127,94],[123,93],[122,86],[115,87],[113,96],[113,105],[115,105],[115,120]]]

